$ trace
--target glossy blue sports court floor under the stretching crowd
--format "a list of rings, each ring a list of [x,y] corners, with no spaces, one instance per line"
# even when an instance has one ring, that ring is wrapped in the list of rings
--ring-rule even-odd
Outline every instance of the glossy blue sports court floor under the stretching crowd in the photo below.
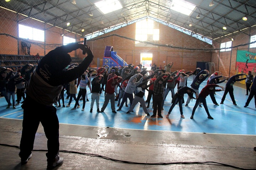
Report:
[[[188,79],[188,86],[192,79]],[[206,85],[206,81],[201,84],[199,91]],[[225,86],[225,83],[220,84]],[[175,88],[175,92],[177,88]],[[124,128],[135,130],[150,130],[150,131],[173,131],[173,132],[194,132],[194,133],[215,133],[215,134],[238,134],[238,135],[256,135],[256,108],[254,105],[254,98],[251,100],[249,106],[244,108],[245,102],[248,98],[245,95],[246,90],[244,88],[234,86],[234,95],[237,106],[233,105],[229,94],[227,94],[224,104],[219,106],[214,105],[210,96],[207,97],[207,105],[210,114],[214,120],[207,119],[207,114],[204,108],[197,108],[194,119],[191,120],[190,116],[196,100],[190,102],[188,107],[183,104],[183,114],[185,119],[180,118],[180,110],[178,105],[172,110],[169,119],[165,116],[171,106],[171,93],[168,94],[164,110],[162,115],[164,118],[151,118],[146,116],[143,109],[139,107],[139,104],[134,108],[134,112],[126,114],[129,108],[125,105],[121,111],[117,111],[116,114],[112,113],[110,103],[107,106],[105,112],[97,113],[96,103],[94,104],[93,112],[90,113],[91,105],[91,93],[87,91],[89,102],[85,104],[85,110],[81,111],[81,108],[71,110],[74,107],[75,101],[71,103],[69,108],[57,108],[57,115],[59,117],[60,124],[82,125],[82,126],[95,126],[95,127],[112,127],[112,128]],[[222,98],[224,91],[216,92],[215,98],[218,103]],[[66,95],[66,94],[65,94]],[[148,93],[146,92],[144,99],[146,100]],[[16,98],[15,98],[16,99]],[[184,97],[185,101],[187,95]],[[65,100],[65,105],[69,100]],[[100,95],[100,109],[104,102],[104,94]],[[79,102],[82,106],[82,100]],[[129,101],[128,101],[129,103]],[[61,102],[62,104],[62,102]],[[4,119],[20,119],[23,118],[23,110],[21,105],[16,106],[16,109],[10,107],[6,109],[7,103],[4,98],[0,98],[0,118]],[[32,106],[33,107],[33,106]],[[117,102],[116,102],[116,109]],[[153,113],[152,99],[150,108],[148,108],[150,115]],[[36,108],[35,108],[36,112]],[[36,114],[36,113],[35,113]]]

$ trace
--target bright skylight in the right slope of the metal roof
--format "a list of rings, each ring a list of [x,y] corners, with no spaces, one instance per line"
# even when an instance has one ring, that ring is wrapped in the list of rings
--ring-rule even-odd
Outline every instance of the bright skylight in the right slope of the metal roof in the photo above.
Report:
[[[189,2],[185,2],[182,0],[173,0],[170,7],[171,10],[183,13],[187,16],[190,16],[195,8],[196,5],[190,4]]]

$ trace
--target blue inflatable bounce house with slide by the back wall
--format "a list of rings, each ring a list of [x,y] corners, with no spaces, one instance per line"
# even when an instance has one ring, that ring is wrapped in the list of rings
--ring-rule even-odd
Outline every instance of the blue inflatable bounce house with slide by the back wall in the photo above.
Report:
[[[117,55],[117,52],[113,50],[113,46],[106,46],[103,57],[103,65],[108,65],[111,68],[114,66],[127,66],[128,64]]]

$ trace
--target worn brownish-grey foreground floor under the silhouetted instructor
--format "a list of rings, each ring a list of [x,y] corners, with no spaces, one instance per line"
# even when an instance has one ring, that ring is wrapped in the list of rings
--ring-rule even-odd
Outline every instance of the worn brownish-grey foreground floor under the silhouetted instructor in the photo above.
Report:
[[[0,119],[0,143],[19,146],[22,121]],[[98,154],[112,159],[139,163],[214,161],[244,169],[256,169],[255,136],[164,132],[100,128],[60,124],[60,150]],[[47,149],[40,125],[34,149]],[[0,146],[0,170],[47,169],[46,151],[32,151],[32,158],[21,165],[18,148]],[[100,157],[60,152],[64,163],[55,169],[67,170],[174,170],[234,168],[212,164],[144,165],[126,164]]]

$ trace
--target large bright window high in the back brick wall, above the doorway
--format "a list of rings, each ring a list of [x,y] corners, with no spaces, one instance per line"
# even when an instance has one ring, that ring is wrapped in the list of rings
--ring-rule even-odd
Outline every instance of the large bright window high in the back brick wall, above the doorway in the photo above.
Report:
[[[140,41],[159,40],[159,23],[146,19],[136,22],[135,39]],[[137,44],[139,42],[135,42]]]

